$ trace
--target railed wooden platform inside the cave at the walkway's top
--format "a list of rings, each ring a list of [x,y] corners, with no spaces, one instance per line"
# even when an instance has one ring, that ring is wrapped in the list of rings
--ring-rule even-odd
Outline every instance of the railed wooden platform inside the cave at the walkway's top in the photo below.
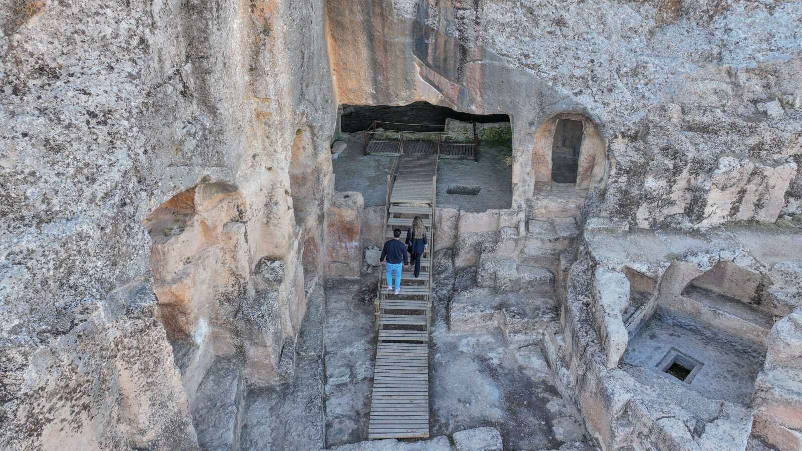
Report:
[[[365,155],[436,155],[442,158],[479,160],[479,136],[473,132],[452,132],[446,125],[401,124],[374,120],[365,131]],[[435,128],[435,132],[415,132],[393,128]]]

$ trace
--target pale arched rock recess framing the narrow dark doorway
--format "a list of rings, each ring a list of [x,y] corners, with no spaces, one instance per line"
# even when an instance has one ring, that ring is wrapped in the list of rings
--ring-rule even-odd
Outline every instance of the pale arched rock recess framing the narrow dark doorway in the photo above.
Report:
[[[592,120],[577,113],[562,113],[550,117],[535,133],[532,148],[532,174],[536,182],[552,182],[552,152],[554,134],[560,120],[582,122],[582,140],[577,161],[578,189],[589,189],[602,180],[605,171],[606,144],[602,132]]]

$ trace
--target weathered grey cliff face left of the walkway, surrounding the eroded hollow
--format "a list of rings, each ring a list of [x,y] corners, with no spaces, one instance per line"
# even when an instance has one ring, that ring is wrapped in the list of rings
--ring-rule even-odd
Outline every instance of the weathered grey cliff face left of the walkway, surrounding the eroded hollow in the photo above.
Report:
[[[242,287],[213,301],[238,333],[213,356],[271,383],[329,192],[322,2],[29,2],[22,16],[17,3],[0,5],[14,20],[0,31],[0,448],[196,449],[152,281],[202,263],[172,255],[178,267],[152,272],[143,223],[197,185],[237,193],[241,217],[219,226],[244,243]],[[294,165],[326,189],[291,180]]]

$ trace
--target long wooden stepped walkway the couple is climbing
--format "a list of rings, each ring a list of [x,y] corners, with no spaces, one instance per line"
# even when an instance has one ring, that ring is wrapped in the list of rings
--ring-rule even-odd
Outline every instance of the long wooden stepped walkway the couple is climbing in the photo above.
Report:
[[[431,327],[431,252],[434,243],[437,156],[407,154],[387,176],[387,239],[401,229],[402,239],[415,216],[427,226],[428,248],[419,278],[403,270],[399,295],[387,292],[380,274],[375,299],[376,357],[368,439],[429,437],[429,330]],[[414,204],[414,205],[410,205]]]

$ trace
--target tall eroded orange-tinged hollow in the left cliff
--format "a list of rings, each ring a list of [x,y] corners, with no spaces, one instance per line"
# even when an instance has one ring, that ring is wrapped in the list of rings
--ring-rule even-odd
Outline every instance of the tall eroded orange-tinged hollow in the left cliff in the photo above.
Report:
[[[236,299],[249,278],[245,201],[231,185],[178,193],[143,222],[152,239],[156,317],[164,324],[192,406],[217,356],[233,356]]]

